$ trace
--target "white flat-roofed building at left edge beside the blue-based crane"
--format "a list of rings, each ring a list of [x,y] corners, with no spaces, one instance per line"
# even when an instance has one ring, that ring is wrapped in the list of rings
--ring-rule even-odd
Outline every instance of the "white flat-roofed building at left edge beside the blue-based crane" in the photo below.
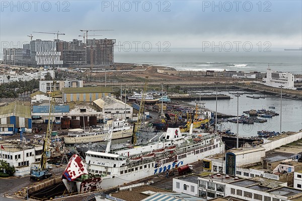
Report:
[[[7,141],[0,141],[0,145],[4,148],[1,149],[0,159],[15,167],[14,176],[17,177],[29,175],[31,165],[40,161],[43,152],[43,146],[37,144],[22,146]]]

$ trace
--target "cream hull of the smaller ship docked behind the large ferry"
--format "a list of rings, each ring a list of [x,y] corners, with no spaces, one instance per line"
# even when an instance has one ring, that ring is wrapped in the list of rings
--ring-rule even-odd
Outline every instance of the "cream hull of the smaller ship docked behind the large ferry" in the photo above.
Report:
[[[64,137],[64,143],[66,145],[73,145],[73,144],[85,144],[85,143],[95,143],[95,142],[102,142],[105,141],[107,138],[106,134],[96,135],[96,136],[86,136],[86,137]],[[132,128],[127,130],[121,130],[112,133],[112,140],[116,139],[123,139],[123,138],[130,138],[132,136]]]

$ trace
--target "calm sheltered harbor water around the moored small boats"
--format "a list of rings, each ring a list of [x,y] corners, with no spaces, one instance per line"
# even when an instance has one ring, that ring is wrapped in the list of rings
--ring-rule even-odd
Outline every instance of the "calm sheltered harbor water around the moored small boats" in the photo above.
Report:
[[[231,93],[235,93],[232,91]],[[239,92],[240,93],[240,92]],[[213,91],[213,94],[216,94]],[[230,94],[228,91],[219,91],[218,94],[229,95],[231,99],[218,100],[217,101],[217,112],[237,116],[237,97],[235,94]],[[264,96],[263,94],[243,94],[239,97],[239,116],[244,114],[243,111],[251,109],[266,109],[273,110],[280,114],[280,97],[266,97],[260,99],[253,99],[247,96]],[[196,100],[198,103],[199,100]],[[205,103],[205,107],[209,110],[215,111],[216,101],[205,100],[201,101]],[[190,104],[195,105],[195,101],[191,101]],[[269,106],[274,106],[275,109],[270,109]],[[239,135],[243,137],[257,136],[257,131],[269,130],[280,132],[280,115],[273,116],[267,119],[264,123],[254,124],[239,124]],[[222,122],[221,125],[217,125],[217,129],[231,129],[232,132],[237,132],[237,124],[229,121]],[[302,129],[302,101],[282,98],[282,131],[299,131]]]

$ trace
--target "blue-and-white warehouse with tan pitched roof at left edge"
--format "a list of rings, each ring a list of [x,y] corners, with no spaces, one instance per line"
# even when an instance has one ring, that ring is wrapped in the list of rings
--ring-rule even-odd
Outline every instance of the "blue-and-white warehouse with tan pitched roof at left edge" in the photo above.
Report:
[[[32,132],[30,106],[15,101],[0,107],[0,135],[13,135],[21,130]]]

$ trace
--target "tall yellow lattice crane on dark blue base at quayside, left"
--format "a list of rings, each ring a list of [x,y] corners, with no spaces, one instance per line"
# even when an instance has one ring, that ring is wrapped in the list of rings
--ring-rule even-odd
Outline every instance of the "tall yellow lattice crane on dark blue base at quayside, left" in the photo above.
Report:
[[[50,156],[50,137],[52,132],[52,123],[53,123],[53,111],[54,111],[54,90],[55,90],[56,81],[53,81],[53,90],[51,98],[49,97],[49,113],[48,113],[48,124],[46,136],[43,140],[43,152],[40,160],[39,167],[31,171],[30,180],[40,181],[52,177],[52,174],[48,172],[46,167],[47,158]],[[50,89],[51,90],[51,89]],[[50,92],[51,93],[51,92]],[[49,96],[50,96],[49,93]]]

